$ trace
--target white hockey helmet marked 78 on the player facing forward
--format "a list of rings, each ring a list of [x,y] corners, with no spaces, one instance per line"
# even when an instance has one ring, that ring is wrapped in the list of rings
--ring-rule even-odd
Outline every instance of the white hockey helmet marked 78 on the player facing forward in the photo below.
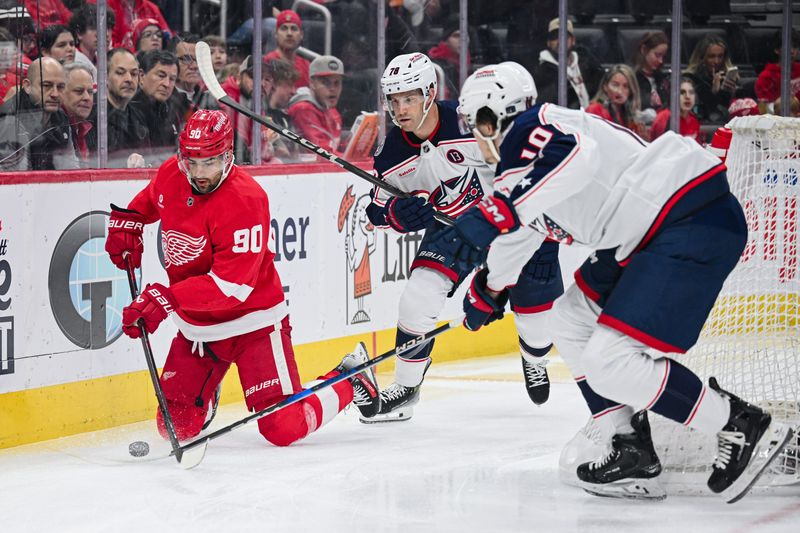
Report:
[[[433,107],[434,100],[428,103],[431,94],[439,92],[439,84],[436,79],[436,69],[428,56],[421,53],[403,54],[392,59],[386,66],[381,76],[381,91],[383,92],[384,105],[398,127],[397,120],[394,118],[394,111],[390,98],[393,94],[404,93],[419,89],[425,97],[425,107],[423,108],[422,120],[428,116],[428,111]],[[419,127],[419,125],[417,127]]]

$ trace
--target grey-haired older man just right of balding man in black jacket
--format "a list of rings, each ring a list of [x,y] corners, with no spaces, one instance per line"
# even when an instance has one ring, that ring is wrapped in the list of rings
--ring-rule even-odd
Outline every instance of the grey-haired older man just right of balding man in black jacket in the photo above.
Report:
[[[92,71],[83,63],[64,66],[66,87],[61,98],[61,107],[67,114],[72,130],[72,145],[81,167],[89,168],[95,163],[95,154],[89,150],[89,132],[97,121],[94,111],[94,78]]]

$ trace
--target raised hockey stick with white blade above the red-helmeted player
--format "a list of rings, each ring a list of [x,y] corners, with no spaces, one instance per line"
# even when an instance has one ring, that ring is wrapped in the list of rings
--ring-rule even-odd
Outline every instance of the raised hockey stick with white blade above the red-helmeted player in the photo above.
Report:
[[[197,54],[197,67],[200,69],[200,76],[203,78],[203,81],[206,84],[206,88],[208,88],[208,90],[211,91],[211,94],[214,96],[214,98],[217,99],[218,102],[222,102],[223,104],[227,105],[232,109],[235,109],[236,111],[248,117],[249,119],[255,120],[259,124],[266,126],[272,131],[286,137],[293,143],[299,144],[303,148],[306,148],[314,152],[318,156],[327,159],[331,163],[340,166],[341,168],[345,169],[351,174],[355,174],[359,178],[367,180],[376,187],[380,187],[381,189],[388,191],[394,196],[397,196],[399,198],[409,198],[411,196],[407,192],[401,191],[397,187],[389,183],[386,183],[381,179],[378,179],[369,172],[366,172],[358,168],[349,161],[337,157],[336,155],[325,150],[324,148],[317,146],[308,139],[300,137],[292,130],[281,128],[268,118],[256,115],[252,110],[247,109],[245,106],[235,101],[230,96],[228,96],[227,93],[225,93],[225,89],[223,89],[222,85],[219,84],[217,76],[216,74],[214,74],[214,66],[211,62],[211,49],[208,47],[208,44],[206,44],[204,41],[199,41],[195,47],[195,53]],[[440,213],[439,211],[434,210],[433,216],[436,220],[438,220],[442,224],[447,224],[448,226],[453,225],[453,219],[443,213]]]

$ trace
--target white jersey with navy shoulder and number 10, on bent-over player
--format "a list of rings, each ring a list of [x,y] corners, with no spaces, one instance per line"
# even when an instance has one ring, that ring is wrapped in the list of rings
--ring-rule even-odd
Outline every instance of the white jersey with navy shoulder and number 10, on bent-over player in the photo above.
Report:
[[[617,124],[552,104],[514,120],[500,157],[495,191],[511,198],[523,225],[564,244],[616,248],[619,261],[689,191],[701,205],[703,195],[710,201],[727,192],[726,180],[713,179],[724,165],[696,142],[667,132],[648,144]]]

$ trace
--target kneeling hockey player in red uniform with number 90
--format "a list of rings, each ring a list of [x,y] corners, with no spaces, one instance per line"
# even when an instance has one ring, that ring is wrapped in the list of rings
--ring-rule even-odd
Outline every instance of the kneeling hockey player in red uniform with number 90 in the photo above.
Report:
[[[178,334],[161,374],[177,437],[197,435],[214,391],[236,364],[245,403],[258,411],[301,390],[291,325],[273,258],[267,194],[234,164],[233,129],[221,111],[197,111],[180,150],[122,209],[114,205],[106,251],[139,267],[145,224],[161,221],[169,287],[147,285],[123,310],[123,331],[153,333],[172,315]],[[363,344],[319,379],[367,361]],[[265,416],[259,431],[286,446],[319,429],[353,401],[362,416],[380,409],[374,375],[356,374]],[[166,435],[161,414],[158,428]]]

